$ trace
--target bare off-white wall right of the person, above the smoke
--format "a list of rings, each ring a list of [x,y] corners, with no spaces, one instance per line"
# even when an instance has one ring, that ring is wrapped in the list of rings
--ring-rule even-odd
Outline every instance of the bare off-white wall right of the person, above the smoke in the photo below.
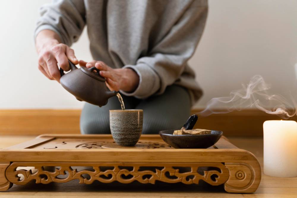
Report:
[[[196,107],[229,96],[256,74],[273,93],[295,91],[296,8],[296,0],[209,1],[206,28],[190,61],[204,90]]]

